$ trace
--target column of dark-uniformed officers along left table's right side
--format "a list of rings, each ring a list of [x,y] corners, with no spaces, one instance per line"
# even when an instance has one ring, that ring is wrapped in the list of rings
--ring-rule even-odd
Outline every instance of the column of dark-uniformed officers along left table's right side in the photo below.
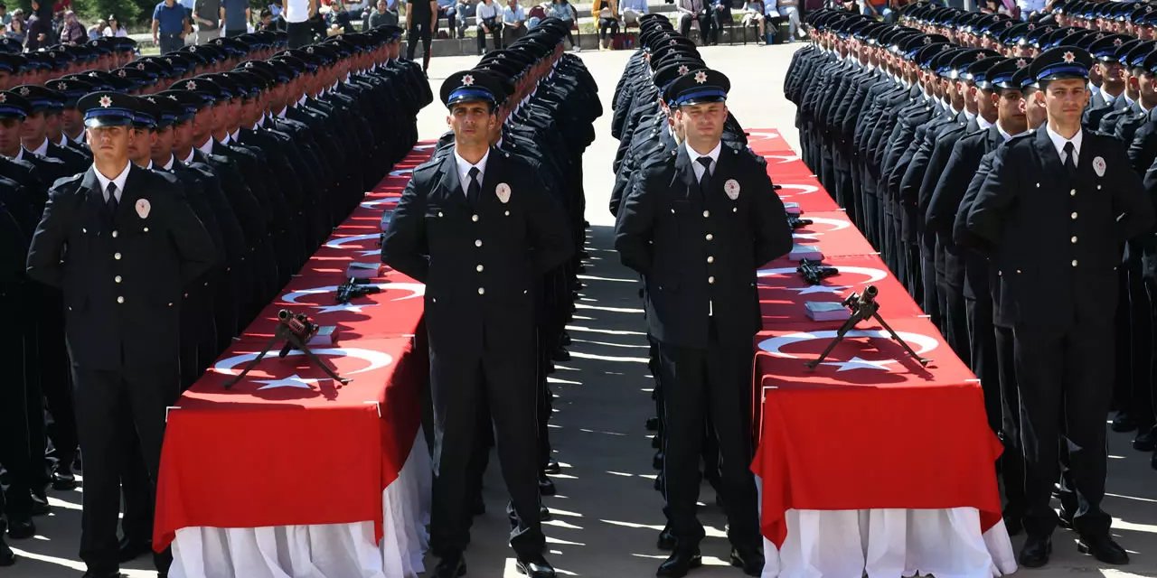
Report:
[[[519,572],[552,577],[541,495],[554,494],[551,361],[562,361],[584,234],[582,153],[600,114],[594,79],[546,18],[507,50],[450,75],[450,132],[414,169],[382,260],[426,283],[434,421],[434,576],[466,572],[485,511],[489,445],[510,495]]]

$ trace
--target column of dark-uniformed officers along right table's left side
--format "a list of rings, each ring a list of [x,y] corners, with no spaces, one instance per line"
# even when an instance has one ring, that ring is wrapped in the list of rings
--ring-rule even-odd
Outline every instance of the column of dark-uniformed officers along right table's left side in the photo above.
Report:
[[[702,564],[695,516],[707,479],[728,517],[730,562],[764,569],[750,428],[752,339],[760,327],[756,271],[786,254],[791,232],[765,161],[727,109],[730,81],[707,67],[665,17],[640,22],[614,95],[620,146],[614,246],[642,277],[656,430],[668,518],[656,575]],[[725,305],[724,305],[725,304]]]

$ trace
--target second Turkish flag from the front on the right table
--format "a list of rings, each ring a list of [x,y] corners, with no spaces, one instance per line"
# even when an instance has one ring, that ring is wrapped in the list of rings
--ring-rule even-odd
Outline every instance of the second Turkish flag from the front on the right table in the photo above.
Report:
[[[887,266],[876,255],[835,257],[825,265],[839,273],[826,277],[818,286],[804,281],[796,272],[798,264],[778,259],[759,269],[759,309],[764,327],[783,324],[811,323],[804,309],[808,302],[840,303],[853,292],[863,292],[876,286],[880,314],[889,317],[918,317],[923,312],[908,291],[889,274]],[[833,321],[827,321],[832,324]],[[839,326],[841,321],[834,321]]]

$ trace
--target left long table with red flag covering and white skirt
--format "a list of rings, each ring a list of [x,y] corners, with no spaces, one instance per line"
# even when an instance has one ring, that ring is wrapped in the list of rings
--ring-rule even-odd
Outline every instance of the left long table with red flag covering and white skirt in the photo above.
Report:
[[[154,546],[174,578],[403,577],[423,571],[430,458],[421,431],[425,289],[385,269],[379,292],[338,304],[351,262],[379,261],[379,218],[397,203],[420,143],[294,275],[234,344],[169,408]],[[311,346],[349,383],[281,343],[239,383],[278,312],[333,326]]]

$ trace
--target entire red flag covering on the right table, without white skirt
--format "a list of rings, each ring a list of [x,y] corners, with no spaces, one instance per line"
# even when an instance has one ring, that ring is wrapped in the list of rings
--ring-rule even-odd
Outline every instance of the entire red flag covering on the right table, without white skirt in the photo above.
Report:
[[[803,218],[796,244],[816,246],[840,269],[819,286],[780,259],[759,272],[764,332],[756,339],[754,408],[762,480],[764,536],[782,547],[786,512],[796,510],[977,507],[981,532],[1001,519],[994,461],[1002,446],[988,429],[979,380],[875,250],[840,212],[775,129],[749,132],[784,202]],[[827,361],[815,360],[841,321],[811,321],[808,301],[840,301],[879,289],[884,319],[920,355],[921,366],[875,321],[850,331]]]

